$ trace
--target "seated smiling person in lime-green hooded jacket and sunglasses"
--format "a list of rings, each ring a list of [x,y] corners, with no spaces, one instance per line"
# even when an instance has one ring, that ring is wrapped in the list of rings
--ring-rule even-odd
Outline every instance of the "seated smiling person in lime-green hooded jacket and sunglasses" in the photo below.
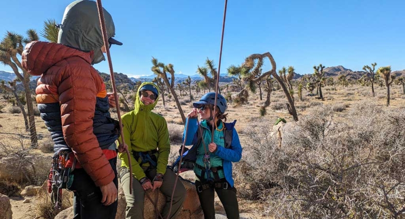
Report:
[[[133,111],[122,116],[124,143],[131,154],[132,174],[129,173],[128,157],[119,153],[122,163],[120,180],[126,199],[126,219],[143,219],[143,200],[145,191],[152,189],[166,196],[162,216],[169,214],[171,196],[176,174],[167,168],[170,153],[169,131],[166,120],[152,112],[158,102],[159,89],[151,82],[144,82],[138,89]],[[132,175],[132,176],[131,176]],[[129,193],[129,177],[134,177],[133,193]],[[186,189],[177,183],[173,197],[171,219],[176,218],[183,201]]]

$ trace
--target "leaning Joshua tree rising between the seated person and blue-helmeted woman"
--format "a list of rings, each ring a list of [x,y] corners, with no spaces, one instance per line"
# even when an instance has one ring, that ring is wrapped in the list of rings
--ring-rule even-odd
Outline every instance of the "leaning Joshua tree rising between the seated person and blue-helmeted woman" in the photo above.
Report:
[[[186,123],[186,117],[184,116],[183,109],[181,108],[180,101],[178,101],[178,97],[176,94],[176,91],[174,89],[175,87],[175,70],[173,69],[173,64],[167,64],[164,65],[162,62],[158,62],[158,59],[152,57],[152,72],[158,75],[158,77],[162,78],[164,83],[166,84],[166,87],[169,88],[170,92],[173,95],[173,98],[175,98],[177,109],[180,112],[181,119],[183,120],[183,123]],[[170,73],[171,75],[171,81],[167,78],[167,73]]]

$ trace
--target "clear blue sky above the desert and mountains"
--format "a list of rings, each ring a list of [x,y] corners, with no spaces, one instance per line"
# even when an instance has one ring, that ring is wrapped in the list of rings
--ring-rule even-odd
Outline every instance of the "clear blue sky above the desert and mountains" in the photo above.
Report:
[[[0,8],[0,34],[39,32],[48,18],[60,22],[70,2],[7,1]],[[114,19],[115,38],[124,44],[111,48],[115,72],[152,74],[152,56],[184,74],[194,74],[207,57],[218,64],[224,0],[104,0],[103,6]],[[229,0],[221,73],[265,52],[277,69],[291,65],[301,74],[319,63],[360,71],[377,62],[403,70],[404,8],[404,0]],[[106,62],[94,67],[109,71]]]

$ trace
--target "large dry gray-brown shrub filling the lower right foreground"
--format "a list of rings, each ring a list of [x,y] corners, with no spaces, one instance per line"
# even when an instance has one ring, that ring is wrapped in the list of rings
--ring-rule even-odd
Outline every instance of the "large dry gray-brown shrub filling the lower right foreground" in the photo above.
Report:
[[[268,121],[249,126],[235,164],[241,197],[263,201],[275,218],[401,218],[405,109],[363,101],[347,113],[348,123],[335,121],[333,107],[309,110],[281,147]]]

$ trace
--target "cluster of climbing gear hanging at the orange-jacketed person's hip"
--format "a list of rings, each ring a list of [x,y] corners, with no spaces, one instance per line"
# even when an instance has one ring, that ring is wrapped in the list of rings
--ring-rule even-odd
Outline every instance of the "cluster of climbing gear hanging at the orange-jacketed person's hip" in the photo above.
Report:
[[[66,168],[72,151],[70,148],[61,148],[53,154],[52,168],[48,174],[48,185],[50,185],[51,202],[53,207],[60,210],[62,207],[62,189],[69,189],[73,182],[73,175],[70,174],[75,167],[75,159],[71,168]]]

